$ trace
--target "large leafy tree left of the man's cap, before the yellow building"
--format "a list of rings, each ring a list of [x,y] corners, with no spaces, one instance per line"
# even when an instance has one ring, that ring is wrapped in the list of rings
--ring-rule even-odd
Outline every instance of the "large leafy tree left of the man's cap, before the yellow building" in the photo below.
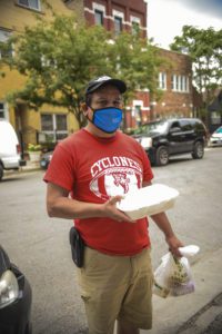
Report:
[[[54,16],[51,22],[27,27],[4,46],[13,46],[16,55],[2,61],[27,78],[24,87],[9,94],[9,101],[22,100],[37,110],[43,104],[67,107],[81,124],[83,87],[108,68],[107,38],[103,29],[85,29],[73,17]]]

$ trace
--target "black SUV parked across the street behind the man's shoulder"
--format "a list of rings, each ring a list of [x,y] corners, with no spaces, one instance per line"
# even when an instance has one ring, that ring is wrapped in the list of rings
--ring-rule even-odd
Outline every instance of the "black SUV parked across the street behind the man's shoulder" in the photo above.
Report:
[[[159,120],[141,126],[133,137],[142,145],[152,165],[164,166],[169,157],[190,153],[202,159],[208,131],[195,118]]]

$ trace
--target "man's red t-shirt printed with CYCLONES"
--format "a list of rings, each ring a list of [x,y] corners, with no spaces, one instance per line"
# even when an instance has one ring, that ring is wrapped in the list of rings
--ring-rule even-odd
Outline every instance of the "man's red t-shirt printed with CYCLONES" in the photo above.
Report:
[[[133,138],[120,131],[99,138],[81,129],[58,144],[44,180],[68,189],[77,200],[101,204],[152,177],[148,156]],[[150,246],[147,218],[85,218],[74,219],[74,225],[85,244],[102,253],[131,256]]]

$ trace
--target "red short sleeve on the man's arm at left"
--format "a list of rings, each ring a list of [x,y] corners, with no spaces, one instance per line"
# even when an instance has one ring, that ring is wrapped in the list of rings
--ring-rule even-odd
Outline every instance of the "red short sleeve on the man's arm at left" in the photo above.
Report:
[[[69,191],[73,189],[74,184],[74,161],[69,150],[60,144],[53,151],[52,159],[43,180],[56,184]]]

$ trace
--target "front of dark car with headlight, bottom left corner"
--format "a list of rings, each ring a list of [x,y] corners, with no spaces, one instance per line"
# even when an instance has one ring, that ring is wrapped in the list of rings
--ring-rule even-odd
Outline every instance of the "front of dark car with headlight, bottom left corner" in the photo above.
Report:
[[[32,291],[0,246],[0,333],[31,334]]]

